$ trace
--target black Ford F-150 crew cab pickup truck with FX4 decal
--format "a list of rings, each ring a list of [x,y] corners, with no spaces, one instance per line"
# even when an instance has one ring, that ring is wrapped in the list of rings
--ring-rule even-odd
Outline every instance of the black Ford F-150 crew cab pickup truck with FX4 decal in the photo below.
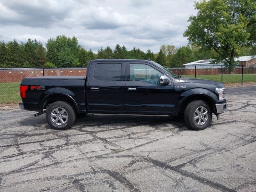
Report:
[[[55,129],[69,128],[76,114],[184,115],[194,130],[227,109],[224,84],[177,76],[153,61],[102,59],[86,76],[24,78],[21,109],[46,113]]]

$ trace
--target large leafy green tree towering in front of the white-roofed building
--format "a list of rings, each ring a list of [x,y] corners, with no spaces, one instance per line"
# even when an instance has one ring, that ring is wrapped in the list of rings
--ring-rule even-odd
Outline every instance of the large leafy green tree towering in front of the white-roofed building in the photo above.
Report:
[[[246,2],[246,3],[244,3]],[[245,6],[246,4],[246,6]],[[250,33],[247,26],[255,14],[244,14],[244,9],[255,10],[254,0],[202,0],[196,2],[196,16],[190,16],[190,25],[184,32],[190,43],[218,53],[216,62],[223,61],[230,68],[235,64],[238,49],[245,46]]]

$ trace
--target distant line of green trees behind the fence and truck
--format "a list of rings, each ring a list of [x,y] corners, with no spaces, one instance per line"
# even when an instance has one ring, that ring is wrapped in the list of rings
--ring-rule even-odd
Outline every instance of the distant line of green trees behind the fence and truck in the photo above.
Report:
[[[252,55],[254,50],[241,47],[239,55]],[[45,47],[36,39],[18,43],[15,39],[0,42],[0,68],[55,68],[86,67],[92,59],[144,59],[153,60],[162,66],[180,66],[196,60],[216,58],[218,53],[211,48],[204,49],[194,44],[175,48],[162,45],[158,53],[140,48],[127,50],[126,46],[100,48],[97,53],[86,50],[78,44],[76,37],[56,36],[50,38]]]

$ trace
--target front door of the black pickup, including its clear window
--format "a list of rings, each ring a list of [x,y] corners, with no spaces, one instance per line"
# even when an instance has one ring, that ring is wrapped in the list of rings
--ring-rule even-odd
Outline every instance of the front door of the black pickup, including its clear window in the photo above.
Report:
[[[127,114],[171,114],[173,85],[159,86],[163,73],[148,63],[126,63]]]

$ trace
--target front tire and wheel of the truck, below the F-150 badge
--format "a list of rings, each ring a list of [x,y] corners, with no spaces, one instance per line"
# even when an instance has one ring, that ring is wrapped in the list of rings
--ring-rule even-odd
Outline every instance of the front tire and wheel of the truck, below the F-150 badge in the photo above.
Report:
[[[201,112],[201,110],[203,111]],[[206,114],[204,115],[204,113]],[[212,121],[212,109],[207,102],[194,100],[185,108],[184,121],[188,127],[194,130],[204,130]]]

